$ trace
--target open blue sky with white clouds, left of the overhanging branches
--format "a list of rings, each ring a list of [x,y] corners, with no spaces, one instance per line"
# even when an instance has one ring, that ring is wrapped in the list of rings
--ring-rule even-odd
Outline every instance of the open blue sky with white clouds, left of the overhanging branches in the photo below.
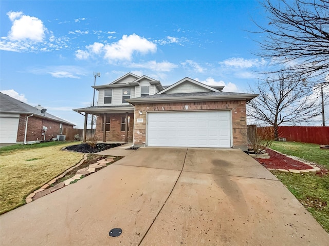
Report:
[[[1,1],[0,89],[83,127],[74,108],[127,72],[190,77],[246,92],[268,63],[253,53],[258,1]]]

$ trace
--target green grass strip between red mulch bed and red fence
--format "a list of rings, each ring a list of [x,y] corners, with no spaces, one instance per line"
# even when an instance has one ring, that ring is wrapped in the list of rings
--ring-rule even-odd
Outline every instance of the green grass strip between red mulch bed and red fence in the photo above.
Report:
[[[293,155],[304,160],[316,162],[329,169],[329,150],[320,149],[320,145],[304,142],[273,141],[270,148],[286,155]]]

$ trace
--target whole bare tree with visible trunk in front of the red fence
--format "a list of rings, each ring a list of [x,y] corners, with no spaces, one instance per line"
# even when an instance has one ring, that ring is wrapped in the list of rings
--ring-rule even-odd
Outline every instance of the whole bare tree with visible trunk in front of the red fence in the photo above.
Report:
[[[304,80],[304,81],[303,81]],[[247,105],[247,115],[258,122],[273,126],[274,136],[279,137],[278,126],[307,122],[321,112],[316,93],[304,87],[301,76],[280,74],[278,78],[259,81],[251,93],[259,94]]]

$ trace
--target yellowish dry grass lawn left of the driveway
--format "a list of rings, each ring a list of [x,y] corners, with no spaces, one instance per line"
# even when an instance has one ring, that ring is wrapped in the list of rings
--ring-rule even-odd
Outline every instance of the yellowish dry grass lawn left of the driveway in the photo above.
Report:
[[[46,146],[50,145],[49,147],[43,147],[42,144],[21,145],[14,146],[14,150],[2,151],[0,155],[0,214],[25,204],[27,195],[82,159],[82,153],[61,150],[65,146],[80,144],[80,142],[53,143],[53,146],[51,142],[44,143],[47,144]]]

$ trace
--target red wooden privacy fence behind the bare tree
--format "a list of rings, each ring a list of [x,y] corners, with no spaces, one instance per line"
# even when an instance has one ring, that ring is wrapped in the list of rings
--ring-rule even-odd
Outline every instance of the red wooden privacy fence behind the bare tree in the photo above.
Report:
[[[329,144],[329,127],[279,127],[278,131],[287,141]]]

